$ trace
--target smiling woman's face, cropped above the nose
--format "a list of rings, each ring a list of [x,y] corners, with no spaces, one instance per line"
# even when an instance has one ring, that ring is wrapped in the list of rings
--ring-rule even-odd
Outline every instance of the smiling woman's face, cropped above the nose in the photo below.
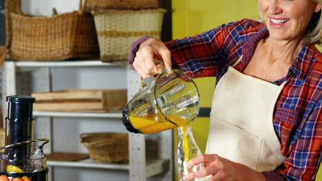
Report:
[[[316,21],[321,14],[319,3],[321,3],[319,0],[259,0],[259,14],[265,21],[271,38],[299,39],[308,45],[316,43],[321,38],[322,21]]]

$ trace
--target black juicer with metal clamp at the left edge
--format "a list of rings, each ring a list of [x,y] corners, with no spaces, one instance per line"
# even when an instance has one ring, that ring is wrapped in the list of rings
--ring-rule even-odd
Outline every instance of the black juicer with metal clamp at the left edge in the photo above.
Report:
[[[32,104],[34,97],[8,96],[6,117],[6,146],[0,147],[0,177],[25,178],[31,181],[46,181],[48,169],[43,145],[48,139],[34,139]],[[34,143],[41,145],[34,149]],[[3,152],[4,150],[4,152]]]

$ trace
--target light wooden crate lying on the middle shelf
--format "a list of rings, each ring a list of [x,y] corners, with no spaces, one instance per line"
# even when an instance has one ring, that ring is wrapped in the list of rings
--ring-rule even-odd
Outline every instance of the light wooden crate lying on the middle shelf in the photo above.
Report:
[[[34,110],[67,112],[109,112],[127,106],[127,90],[62,90],[34,93]]]

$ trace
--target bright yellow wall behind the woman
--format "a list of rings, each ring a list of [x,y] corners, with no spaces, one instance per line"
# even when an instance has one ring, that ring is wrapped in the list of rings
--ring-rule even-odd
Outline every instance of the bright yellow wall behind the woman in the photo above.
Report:
[[[213,29],[222,23],[240,19],[257,19],[258,6],[255,0],[172,0],[173,38],[184,38]],[[211,106],[215,78],[195,80],[201,95],[201,106]],[[193,136],[202,152],[206,147],[209,118],[202,117],[193,121]],[[317,179],[322,181],[320,169]]]

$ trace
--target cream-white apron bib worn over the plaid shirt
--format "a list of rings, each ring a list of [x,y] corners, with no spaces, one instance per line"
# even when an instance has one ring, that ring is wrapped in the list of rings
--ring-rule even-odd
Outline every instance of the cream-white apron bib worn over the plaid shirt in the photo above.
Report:
[[[213,94],[206,154],[218,154],[257,171],[279,167],[285,157],[272,116],[285,84],[278,86],[229,67]]]

